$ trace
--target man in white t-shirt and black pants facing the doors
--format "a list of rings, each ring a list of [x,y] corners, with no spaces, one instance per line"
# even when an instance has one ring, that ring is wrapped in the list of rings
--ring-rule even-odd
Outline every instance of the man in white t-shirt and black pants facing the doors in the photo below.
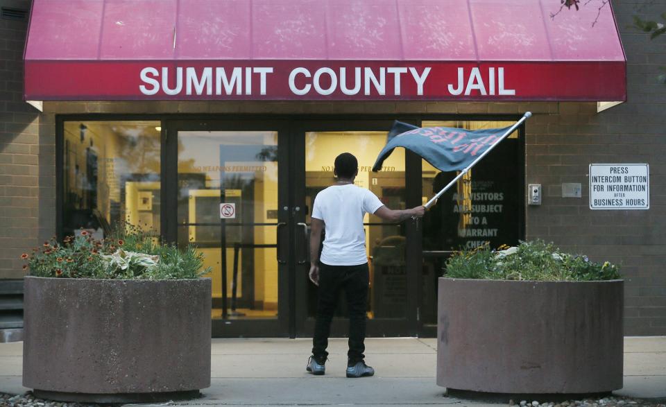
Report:
[[[312,208],[309,277],[319,286],[319,300],[307,371],[325,372],[331,320],[339,293],[344,290],[349,309],[347,377],[372,376],[375,370],[366,365],[363,354],[370,281],[363,218],[368,213],[402,222],[423,216],[425,207],[391,210],[374,193],[357,187],[354,179],[359,173],[359,163],[350,153],[336,157],[334,173],[338,181],[317,194]],[[322,230],[325,238],[320,259]]]

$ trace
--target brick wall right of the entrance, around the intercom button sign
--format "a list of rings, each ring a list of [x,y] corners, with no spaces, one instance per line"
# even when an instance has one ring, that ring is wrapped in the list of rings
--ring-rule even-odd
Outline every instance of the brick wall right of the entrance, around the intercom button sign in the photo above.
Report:
[[[595,114],[593,105],[561,104],[527,126],[527,182],[543,184],[542,207],[527,208],[527,237],[555,241],[595,260],[622,264],[625,332],[666,334],[666,37],[633,30],[632,15],[659,20],[666,1],[614,1],[627,58],[628,101]],[[591,211],[588,165],[648,163],[650,209]],[[562,182],[580,182],[583,198],[561,198]]]

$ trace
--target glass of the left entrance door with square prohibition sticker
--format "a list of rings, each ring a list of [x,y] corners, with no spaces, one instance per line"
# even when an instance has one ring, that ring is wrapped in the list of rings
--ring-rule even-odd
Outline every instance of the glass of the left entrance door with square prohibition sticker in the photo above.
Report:
[[[211,268],[213,320],[278,318],[278,132],[178,132],[178,245]]]

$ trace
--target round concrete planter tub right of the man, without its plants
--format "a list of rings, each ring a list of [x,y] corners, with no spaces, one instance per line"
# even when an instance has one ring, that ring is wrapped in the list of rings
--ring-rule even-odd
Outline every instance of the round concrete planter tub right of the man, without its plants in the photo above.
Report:
[[[624,282],[439,279],[437,384],[498,393],[622,388]]]

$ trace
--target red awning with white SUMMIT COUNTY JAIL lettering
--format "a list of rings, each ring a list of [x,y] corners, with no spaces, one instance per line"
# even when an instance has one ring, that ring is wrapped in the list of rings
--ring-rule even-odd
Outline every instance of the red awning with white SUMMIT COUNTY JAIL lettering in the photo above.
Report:
[[[25,98],[626,100],[610,3],[598,17],[596,6],[550,17],[560,7],[558,0],[34,0]]]

